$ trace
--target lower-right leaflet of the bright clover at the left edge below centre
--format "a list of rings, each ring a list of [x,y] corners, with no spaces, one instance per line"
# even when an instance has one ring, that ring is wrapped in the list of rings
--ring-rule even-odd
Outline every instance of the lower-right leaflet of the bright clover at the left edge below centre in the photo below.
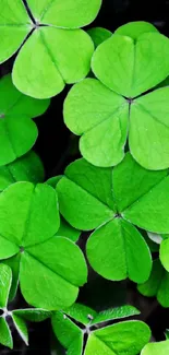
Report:
[[[51,310],[69,307],[86,279],[85,259],[79,247],[67,238],[50,238],[26,248],[22,255],[21,289],[27,303],[35,307]]]

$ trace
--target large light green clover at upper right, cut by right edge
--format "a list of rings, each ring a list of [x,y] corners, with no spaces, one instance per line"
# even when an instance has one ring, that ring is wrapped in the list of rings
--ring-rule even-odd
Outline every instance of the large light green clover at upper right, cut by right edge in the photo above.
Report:
[[[135,24],[128,24],[99,45],[92,58],[97,79],[75,84],[65,98],[64,122],[81,135],[81,153],[96,166],[120,163],[128,139],[143,167],[169,166],[169,87],[155,87],[169,73],[169,39],[145,27],[134,32]]]

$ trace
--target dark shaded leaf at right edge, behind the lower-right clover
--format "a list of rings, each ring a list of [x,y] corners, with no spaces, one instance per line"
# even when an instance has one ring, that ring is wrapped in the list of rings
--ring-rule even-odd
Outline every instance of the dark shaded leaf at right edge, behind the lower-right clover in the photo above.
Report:
[[[169,307],[169,273],[159,259],[154,260],[149,279],[144,284],[138,284],[137,289],[146,297],[156,296],[162,307]]]

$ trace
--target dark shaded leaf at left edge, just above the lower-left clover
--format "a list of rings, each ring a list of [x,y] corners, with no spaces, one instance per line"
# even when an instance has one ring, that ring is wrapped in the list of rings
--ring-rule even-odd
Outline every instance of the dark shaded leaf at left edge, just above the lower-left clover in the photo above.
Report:
[[[19,159],[0,166],[0,192],[16,181],[43,182],[44,166],[38,155],[31,151]]]

